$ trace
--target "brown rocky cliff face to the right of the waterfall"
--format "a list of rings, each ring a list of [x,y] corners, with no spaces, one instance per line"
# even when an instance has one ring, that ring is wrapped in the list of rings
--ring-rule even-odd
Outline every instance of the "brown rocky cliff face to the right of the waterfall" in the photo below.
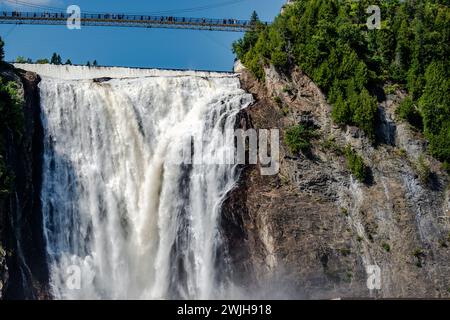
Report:
[[[278,128],[283,140],[286,128],[307,121],[319,135],[307,156],[282,142],[276,176],[243,168],[222,221],[235,279],[266,292],[257,296],[450,297],[449,178],[426,156],[426,142],[395,118],[402,93],[379,104],[371,143],[357,128],[332,123],[326,98],[300,70],[285,77],[266,69],[264,84],[238,71],[256,99],[241,126]],[[370,167],[369,183],[348,172],[347,144]],[[367,287],[370,265],[380,268],[379,290]]]

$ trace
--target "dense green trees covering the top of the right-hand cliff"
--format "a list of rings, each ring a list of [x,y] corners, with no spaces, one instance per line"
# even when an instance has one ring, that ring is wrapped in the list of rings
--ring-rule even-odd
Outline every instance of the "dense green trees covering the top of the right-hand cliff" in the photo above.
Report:
[[[381,29],[366,26],[369,5],[381,9]],[[254,75],[263,67],[299,66],[327,95],[332,117],[374,138],[377,88],[406,90],[401,118],[423,130],[430,153],[450,163],[450,10],[446,0],[302,0],[271,26],[233,45]]]

